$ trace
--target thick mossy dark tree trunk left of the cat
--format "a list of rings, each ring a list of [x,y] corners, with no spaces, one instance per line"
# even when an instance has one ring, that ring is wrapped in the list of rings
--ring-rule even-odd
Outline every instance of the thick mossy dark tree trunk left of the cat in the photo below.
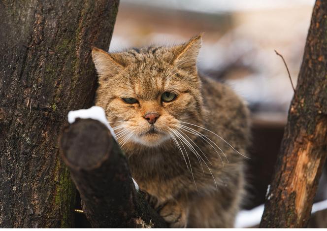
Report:
[[[59,157],[69,110],[92,105],[91,46],[107,50],[118,0],[0,3],[0,227],[70,227]]]

